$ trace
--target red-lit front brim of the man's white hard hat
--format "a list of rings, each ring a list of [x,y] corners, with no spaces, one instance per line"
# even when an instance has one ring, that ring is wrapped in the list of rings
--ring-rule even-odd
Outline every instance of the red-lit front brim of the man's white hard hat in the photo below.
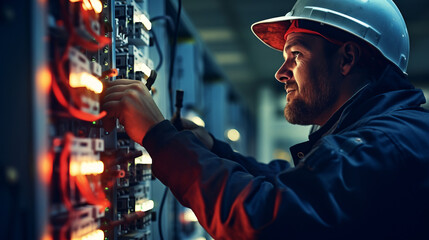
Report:
[[[267,46],[283,51],[285,45],[284,35],[291,25],[291,20],[302,19],[300,17],[281,16],[269,18],[252,24],[253,34]]]

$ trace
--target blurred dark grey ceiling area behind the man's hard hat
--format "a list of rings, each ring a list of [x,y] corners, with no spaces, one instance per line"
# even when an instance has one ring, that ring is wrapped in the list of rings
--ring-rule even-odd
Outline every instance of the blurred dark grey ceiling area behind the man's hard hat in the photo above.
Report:
[[[285,15],[294,3],[294,0],[183,0],[183,8],[201,39],[250,106],[255,106],[255,93],[264,86],[284,94],[274,78],[282,64],[282,55],[259,42],[250,26],[259,20]],[[425,81],[429,83],[429,1],[396,0],[395,3],[404,15],[411,38],[410,79],[417,85],[428,86]]]

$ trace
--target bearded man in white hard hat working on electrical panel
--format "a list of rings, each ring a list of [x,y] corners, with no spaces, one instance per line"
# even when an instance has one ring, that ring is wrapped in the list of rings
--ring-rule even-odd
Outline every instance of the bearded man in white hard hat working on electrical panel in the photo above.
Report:
[[[286,119],[320,129],[291,148],[296,167],[261,164],[202,128],[178,132],[143,84],[112,82],[103,107],[158,179],[215,239],[428,239],[429,113],[393,2],[298,0],[252,30],[283,51]]]

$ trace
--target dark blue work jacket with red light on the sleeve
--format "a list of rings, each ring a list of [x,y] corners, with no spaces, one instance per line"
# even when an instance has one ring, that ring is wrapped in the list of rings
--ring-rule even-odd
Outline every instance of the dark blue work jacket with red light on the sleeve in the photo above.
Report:
[[[429,239],[429,113],[388,67],[309,141],[296,167],[212,151],[164,121],[143,146],[153,172],[215,239]]]

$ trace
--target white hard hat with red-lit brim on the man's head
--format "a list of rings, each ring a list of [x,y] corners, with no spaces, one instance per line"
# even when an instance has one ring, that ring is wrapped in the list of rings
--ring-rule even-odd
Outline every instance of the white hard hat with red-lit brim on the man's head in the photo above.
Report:
[[[256,22],[251,28],[266,45],[283,51],[284,34],[295,19],[348,32],[378,49],[406,74],[410,40],[404,18],[392,0],[298,0],[285,16]]]

